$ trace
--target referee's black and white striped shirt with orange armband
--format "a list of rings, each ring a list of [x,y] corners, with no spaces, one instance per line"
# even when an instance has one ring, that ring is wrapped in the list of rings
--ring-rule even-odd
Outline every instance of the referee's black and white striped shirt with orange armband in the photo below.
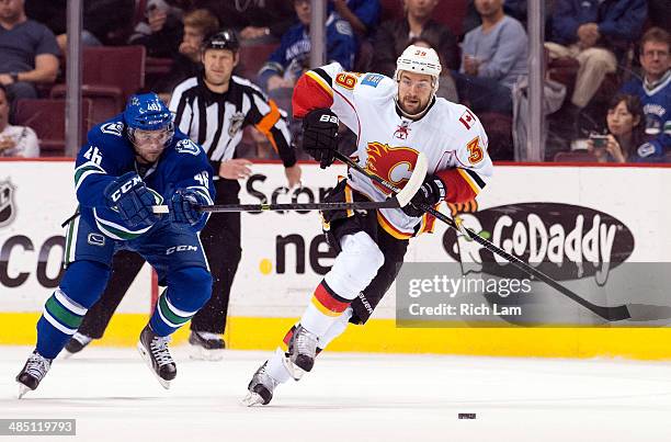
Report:
[[[175,127],[203,146],[215,173],[221,161],[236,157],[242,129],[250,124],[268,137],[285,167],[296,163],[286,113],[249,80],[231,76],[228,91],[215,93],[202,75],[189,78],[174,88],[170,111]]]

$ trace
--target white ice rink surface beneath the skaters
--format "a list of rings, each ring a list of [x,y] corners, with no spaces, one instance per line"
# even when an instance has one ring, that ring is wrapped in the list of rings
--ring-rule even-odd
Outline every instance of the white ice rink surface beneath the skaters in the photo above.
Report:
[[[77,419],[77,437],[43,441],[671,441],[668,362],[325,353],[271,405],[246,408],[269,352],[205,362],[175,348],[164,390],[135,349],[94,347],[19,400],[30,351],[0,347],[0,418]]]

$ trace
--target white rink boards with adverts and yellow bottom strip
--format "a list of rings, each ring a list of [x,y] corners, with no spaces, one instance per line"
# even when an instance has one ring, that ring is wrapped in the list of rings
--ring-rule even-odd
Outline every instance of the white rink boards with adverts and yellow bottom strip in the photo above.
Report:
[[[323,171],[312,165],[304,165],[303,170],[305,188],[288,191],[280,165],[254,165],[252,177],[242,183],[242,203],[320,201],[338,173],[344,173],[343,168]],[[35,320],[60,272],[65,243],[60,224],[76,207],[71,172],[72,162],[68,160],[0,161],[0,343],[34,342]],[[511,250],[531,242],[532,234],[542,235],[534,230],[534,219],[547,223],[550,218],[555,223],[551,229],[564,229],[567,238],[577,238],[576,243],[584,246],[571,250],[567,246],[561,257],[546,253],[539,257],[542,260],[593,261],[600,269],[606,261],[617,265],[671,262],[667,235],[671,208],[664,204],[670,186],[669,168],[500,166],[478,199],[477,209],[466,207],[475,212],[464,214],[464,218],[482,229],[494,219],[496,225],[487,229],[498,235],[493,239],[499,245]],[[582,215],[571,218],[573,209]],[[501,220],[500,214],[505,214],[507,220]],[[320,229],[315,212],[242,215],[242,261],[232,287],[227,328],[231,348],[274,348],[302,314],[332,262]],[[595,234],[592,242],[590,231]],[[452,237],[437,224],[434,234],[412,242],[407,261],[457,263],[478,254]],[[596,273],[581,273],[581,281],[567,284],[594,284]],[[615,270],[612,274],[616,276]],[[147,268],[129,292],[103,343],[135,342],[156,296]],[[639,301],[641,295],[630,292],[630,299],[611,302]],[[670,331],[659,327],[592,328],[581,322],[576,325],[582,327],[562,328],[398,328],[394,294],[393,286],[368,325],[350,327],[332,349],[639,359],[671,355]],[[182,330],[177,339],[184,336]]]

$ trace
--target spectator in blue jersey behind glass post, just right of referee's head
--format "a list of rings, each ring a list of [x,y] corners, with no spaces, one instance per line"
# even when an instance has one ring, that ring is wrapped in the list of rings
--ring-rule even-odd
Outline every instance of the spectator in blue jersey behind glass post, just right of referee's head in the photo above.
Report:
[[[311,14],[310,0],[293,1],[299,23],[282,36],[282,44],[259,71],[259,82],[271,95],[272,91],[277,89],[293,89],[294,82],[308,68],[311,49],[308,30]],[[350,24],[341,20],[338,14],[331,13],[326,21],[326,34],[327,63],[338,61],[345,70],[351,70],[356,42]],[[280,106],[283,107],[282,104]]]

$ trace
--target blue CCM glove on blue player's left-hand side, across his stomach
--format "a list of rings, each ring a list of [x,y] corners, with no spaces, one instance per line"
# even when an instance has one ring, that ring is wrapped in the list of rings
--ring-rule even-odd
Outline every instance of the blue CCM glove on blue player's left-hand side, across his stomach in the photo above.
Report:
[[[159,220],[151,211],[156,199],[135,172],[127,172],[110,183],[103,194],[107,206],[118,212],[130,227],[151,226]]]

